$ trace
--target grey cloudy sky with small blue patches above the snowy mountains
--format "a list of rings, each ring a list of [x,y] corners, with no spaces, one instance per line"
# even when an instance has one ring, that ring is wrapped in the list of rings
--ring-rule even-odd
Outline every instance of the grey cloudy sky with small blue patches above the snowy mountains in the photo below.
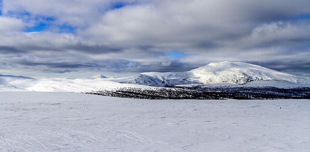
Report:
[[[0,0],[0,74],[129,76],[222,61],[310,77],[310,0]]]

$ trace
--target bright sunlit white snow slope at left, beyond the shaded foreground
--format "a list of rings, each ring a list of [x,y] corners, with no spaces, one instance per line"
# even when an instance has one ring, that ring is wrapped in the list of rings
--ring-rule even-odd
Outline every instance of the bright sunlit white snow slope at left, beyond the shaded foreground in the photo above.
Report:
[[[137,84],[120,84],[115,79],[28,79],[23,77],[0,76],[0,92],[2,91],[41,91],[41,92],[87,92],[111,90],[118,87],[150,88]]]

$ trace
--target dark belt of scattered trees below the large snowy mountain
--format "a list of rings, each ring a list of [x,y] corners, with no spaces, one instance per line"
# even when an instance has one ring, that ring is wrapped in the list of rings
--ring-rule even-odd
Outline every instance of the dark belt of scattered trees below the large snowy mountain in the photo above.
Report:
[[[172,86],[164,88],[122,87],[113,90],[84,92],[86,94],[133,99],[310,99],[310,87],[226,87],[226,86]]]

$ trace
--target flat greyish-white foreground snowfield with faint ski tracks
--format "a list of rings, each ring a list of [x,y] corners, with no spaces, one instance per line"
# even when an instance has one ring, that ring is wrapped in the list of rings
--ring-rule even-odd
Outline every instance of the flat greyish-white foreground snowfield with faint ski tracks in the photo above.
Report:
[[[310,100],[132,100],[0,92],[0,112],[3,152],[310,149]]]

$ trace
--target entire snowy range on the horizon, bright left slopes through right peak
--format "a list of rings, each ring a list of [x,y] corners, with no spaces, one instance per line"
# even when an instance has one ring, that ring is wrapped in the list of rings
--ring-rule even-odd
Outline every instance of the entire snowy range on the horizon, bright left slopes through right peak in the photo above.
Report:
[[[100,78],[102,75],[100,75]],[[137,85],[140,84],[140,85]],[[211,63],[187,72],[147,72],[126,78],[107,79],[32,79],[0,75],[1,91],[87,92],[118,87],[151,88],[184,84],[212,86],[275,86],[279,88],[309,87],[310,80],[242,62]]]

